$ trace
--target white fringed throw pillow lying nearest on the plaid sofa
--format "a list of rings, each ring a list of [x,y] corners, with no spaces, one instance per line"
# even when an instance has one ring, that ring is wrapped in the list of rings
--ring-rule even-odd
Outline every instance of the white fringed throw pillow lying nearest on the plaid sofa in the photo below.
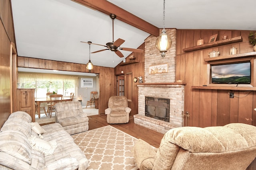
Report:
[[[44,156],[52,154],[57,148],[57,143],[55,140],[47,142],[40,138],[37,138],[35,135],[31,135],[28,140],[30,141],[31,148],[41,152],[42,154],[44,154]]]

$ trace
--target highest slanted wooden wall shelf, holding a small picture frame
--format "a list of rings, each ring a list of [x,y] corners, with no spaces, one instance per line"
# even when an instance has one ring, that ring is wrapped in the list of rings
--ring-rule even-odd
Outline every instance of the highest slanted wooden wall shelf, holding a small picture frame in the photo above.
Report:
[[[242,42],[242,41],[243,41],[242,36],[239,36],[239,37],[234,37],[234,38],[230,38],[230,39],[215,41],[215,42],[212,42],[212,43],[197,45],[197,46],[194,46],[194,47],[184,48],[183,51],[184,52],[190,52],[190,51],[202,50],[202,49],[217,47],[217,46],[220,46],[220,45],[238,43],[238,42]]]

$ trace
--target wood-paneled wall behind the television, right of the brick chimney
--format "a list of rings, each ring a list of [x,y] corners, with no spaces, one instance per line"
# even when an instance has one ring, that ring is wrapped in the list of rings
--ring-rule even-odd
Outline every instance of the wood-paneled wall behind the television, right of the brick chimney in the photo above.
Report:
[[[207,127],[222,126],[228,123],[246,123],[256,125],[256,92],[234,91],[239,98],[229,98],[230,90],[192,89],[192,86],[206,85],[210,79],[207,62],[211,51],[220,51],[220,56],[230,55],[230,48],[236,47],[239,53],[253,51],[248,43],[250,31],[232,30],[178,30],[176,51],[176,80],[184,80],[185,110],[189,112],[189,126]],[[204,50],[185,53],[184,48],[197,45],[197,40],[202,38],[208,43],[210,36],[218,34],[217,40],[222,40],[223,35],[228,38],[242,36],[243,41]],[[254,59],[255,63],[255,59]],[[255,70],[255,69],[254,69]],[[255,79],[255,73],[252,74]],[[256,84],[254,84],[254,87]],[[233,90],[232,90],[233,91]]]

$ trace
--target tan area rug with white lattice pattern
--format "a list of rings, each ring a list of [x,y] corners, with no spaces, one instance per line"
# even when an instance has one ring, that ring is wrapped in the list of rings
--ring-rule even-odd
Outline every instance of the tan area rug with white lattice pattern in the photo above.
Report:
[[[89,160],[87,170],[137,170],[132,148],[138,140],[111,125],[72,135]]]

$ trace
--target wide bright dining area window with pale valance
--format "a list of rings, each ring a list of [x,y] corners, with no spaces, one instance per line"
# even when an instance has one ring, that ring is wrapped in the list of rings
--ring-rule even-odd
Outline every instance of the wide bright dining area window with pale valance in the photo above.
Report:
[[[47,92],[69,97],[77,93],[78,76],[41,73],[18,73],[21,88],[35,88],[35,98],[45,98]]]

